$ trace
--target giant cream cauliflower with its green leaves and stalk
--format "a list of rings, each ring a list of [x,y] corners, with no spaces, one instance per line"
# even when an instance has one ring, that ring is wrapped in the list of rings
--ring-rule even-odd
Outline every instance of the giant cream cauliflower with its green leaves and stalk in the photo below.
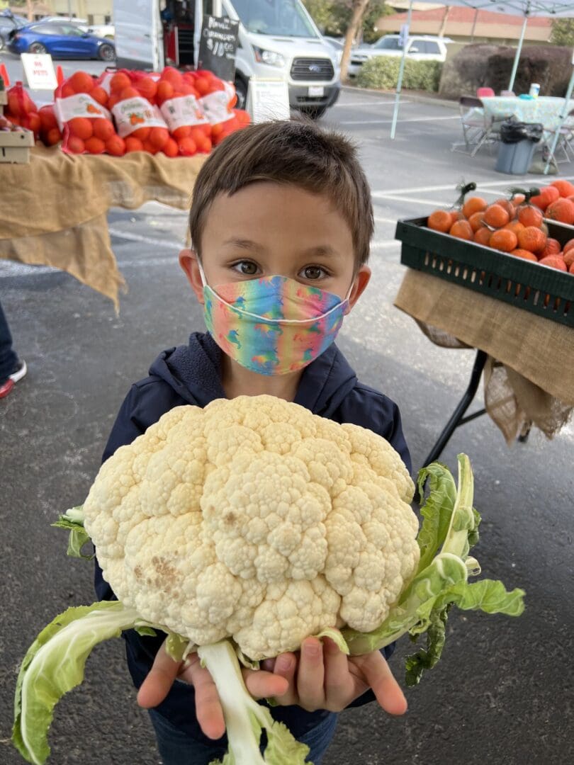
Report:
[[[162,630],[174,659],[197,649],[214,679],[224,765],[303,765],[308,747],[249,695],[238,656],[276,656],[313,634],[364,654],[426,632],[427,648],[407,658],[412,685],[441,655],[452,604],[523,610],[521,590],[468,584],[480,571],[469,555],[480,516],[465,454],[458,474],[457,487],[439,463],[419,472],[419,493],[427,480],[430,491],[417,536],[413,482],[373,432],[271,396],[172,409],[119,448],[83,508],[54,524],[70,529],[70,555],[91,537],[119,602],[69,608],[32,643],[15,746],[44,763],[54,705],[82,681],[93,646],[122,630]]]

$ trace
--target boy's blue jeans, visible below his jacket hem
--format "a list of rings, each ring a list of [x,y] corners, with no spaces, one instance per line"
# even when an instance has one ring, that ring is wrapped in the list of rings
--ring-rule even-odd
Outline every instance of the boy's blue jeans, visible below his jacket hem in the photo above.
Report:
[[[201,744],[188,736],[179,728],[175,728],[168,720],[154,709],[149,711],[158,741],[158,750],[163,765],[209,765],[211,760],[223,760],[225,750]],[[337,715],[331,713],[315,728],[311,728],[299,741],[307,744],[309,754],[306,762],[321,765],[321,760],[327,747],[331,744],[334,730],[337,726]]]

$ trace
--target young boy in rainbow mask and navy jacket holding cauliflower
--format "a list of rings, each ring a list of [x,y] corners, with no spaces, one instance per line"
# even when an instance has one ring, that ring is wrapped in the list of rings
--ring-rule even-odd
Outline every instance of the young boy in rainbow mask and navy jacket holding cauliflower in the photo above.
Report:
[[[204,305],[209,332],[165,350],[120,409],[104,460],[174,406],[270,394],[335,422],[370,428],[410,469],[398,409],[358,382],[333,340],[370,278],[370,190],[354,147],[307,122],[271,122],[233,133],[194,186],[192,250],[181,268]],[[96,566],[96,591],[113,598]],[[126,634],[138,701],[150,708],[165,765],[207,765],[227,748],[223,715],[197,656],[178,665],[161,639]],[[384,655],[389,656],[385,649]],[[184,682],[174,682],[184,681]],[[310,747],[319,765],[337,712],[377,698],[391,714],[406,702],[382,653],[347,659],[330,640],[246,672],[256,698]],[[153,709],[152,709],[153,708]]]

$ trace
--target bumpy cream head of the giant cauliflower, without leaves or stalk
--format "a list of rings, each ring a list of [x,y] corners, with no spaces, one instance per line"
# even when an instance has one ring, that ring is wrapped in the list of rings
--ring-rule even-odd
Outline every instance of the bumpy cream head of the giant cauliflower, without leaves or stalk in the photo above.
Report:
[[[419,561],[413,490],[371,431],[240,396],[172,409],[119,448],[85,525],[143,619],[262,659],[384,620]]]

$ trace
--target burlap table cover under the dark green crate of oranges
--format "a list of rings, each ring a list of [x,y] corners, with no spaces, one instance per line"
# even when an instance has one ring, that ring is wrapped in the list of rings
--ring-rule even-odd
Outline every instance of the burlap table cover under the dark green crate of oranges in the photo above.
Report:
[[[484,406],[507,444],[530,423],[552,438],[568,422],[572,328],[414,269],[406,269],[394,304],[433,343],[488,353]]]

